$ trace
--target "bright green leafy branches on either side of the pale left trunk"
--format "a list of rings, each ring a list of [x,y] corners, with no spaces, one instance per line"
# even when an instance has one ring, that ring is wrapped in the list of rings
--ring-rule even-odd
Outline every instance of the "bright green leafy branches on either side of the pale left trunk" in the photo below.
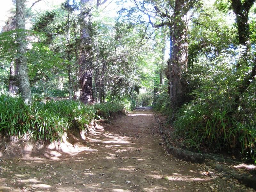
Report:
[[[0,34],[0,59],[4,63],[11,63],[17,57],[15,36],[21,32],[22,30],[19,29]],[[52,79],[55,77],[54,74],[63,70],[64,60],[60,58],[60,54],[52,52],[45,44],[34,42],[34,38],[42,37],[38,32],[26,30],[26,35],[30,39],[26,42],[29,47],[26,58],[30,83]],[[8,79],[8,75],[5,73],[4,79]]]

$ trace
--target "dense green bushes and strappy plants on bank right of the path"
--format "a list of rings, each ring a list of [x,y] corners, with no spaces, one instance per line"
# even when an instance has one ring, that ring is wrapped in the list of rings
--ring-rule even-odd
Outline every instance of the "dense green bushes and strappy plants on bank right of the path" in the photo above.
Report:
[[[239,106],[233,111],[237,87],[250,72],[246,66],[236,69],[236,63],[243,62],[244,49],[235,47],[212,63],[200,63],[205,66],[204,72],[195,79],[203,74],[204,80],[192,92],[194,100],[182,106],[173,123],[176,134],[186,139],[187,147],[205,144],[219,150],[240,148],[241,153],[248,152],[256,160],[255,82],[241,95]]]

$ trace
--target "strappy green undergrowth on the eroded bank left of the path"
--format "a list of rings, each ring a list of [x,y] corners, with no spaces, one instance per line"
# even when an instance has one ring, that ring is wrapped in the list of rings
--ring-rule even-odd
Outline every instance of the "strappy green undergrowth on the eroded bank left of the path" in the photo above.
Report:
[[[0,94],[0,132],[8,136],[28,136],[35,140],[61,140],[68,130],[84,130],[96,118],[109,118],[125,110],[127,102],[112,101],[84,105],[74,100],[34,100],[32,106],[20,97]]]

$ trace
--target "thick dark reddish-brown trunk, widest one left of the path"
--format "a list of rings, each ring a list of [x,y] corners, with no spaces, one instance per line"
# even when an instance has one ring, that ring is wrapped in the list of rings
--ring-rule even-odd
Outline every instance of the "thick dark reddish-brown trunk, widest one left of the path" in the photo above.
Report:
[[[81,0],[81,31],[79,57],[80,100],[85,104],[93,102],[92,91],[92,0]]]

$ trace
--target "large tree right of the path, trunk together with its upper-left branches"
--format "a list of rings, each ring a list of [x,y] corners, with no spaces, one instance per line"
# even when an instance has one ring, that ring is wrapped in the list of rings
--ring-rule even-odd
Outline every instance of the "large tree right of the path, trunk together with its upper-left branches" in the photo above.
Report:
[[[168,1],[164,6],[154,3],[156,16],[161,18],[161,23],[153,24],[148,14],[153,27],[168,26],[170,29],[169,84],[171,107],[174,112],[186,100],[186,82],[183,77],[188,68],[188,12],[194,4],[194,0]]]

